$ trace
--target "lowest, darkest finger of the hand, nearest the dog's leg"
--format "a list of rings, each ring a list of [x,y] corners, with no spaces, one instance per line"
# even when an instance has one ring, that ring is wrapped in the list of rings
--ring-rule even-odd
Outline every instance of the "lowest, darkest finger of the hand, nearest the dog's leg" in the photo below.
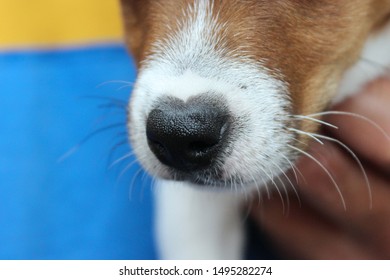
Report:
[[[369,259],[373,255],[353,239],[296,200],[289,215],[278,199],[264,201],[254,209],[258,224],[285,256],[298,259]]]

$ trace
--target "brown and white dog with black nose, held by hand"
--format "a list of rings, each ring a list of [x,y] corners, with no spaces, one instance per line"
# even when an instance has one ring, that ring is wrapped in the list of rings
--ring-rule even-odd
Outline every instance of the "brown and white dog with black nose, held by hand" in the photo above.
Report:
[[[390,65],[390,1],[121,5],[139,69],[129,139],[156,178],[160,256],[243,258],[245,196],[307,155],[319,112]]]

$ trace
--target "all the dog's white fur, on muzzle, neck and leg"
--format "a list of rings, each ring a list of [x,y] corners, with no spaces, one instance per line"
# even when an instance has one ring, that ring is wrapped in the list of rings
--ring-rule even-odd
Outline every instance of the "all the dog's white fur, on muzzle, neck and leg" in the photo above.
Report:
[[[236,178],[247,188],[263,185],[286,169],[285,143],[291,135],[283,129],[289,106],[287,86],[276,79],[261,62],[237,59],[224,49],[223,26],[211,15],[208,1],[200,0],[183,11],[187,21],[180,30],[154,45],[154,55],[140,70],[132,96],[130,130],[134,151],[153,175],[170,173],[147,145],[145,122],[158,98],[174,96],[186,101],[197,94],[216,92],[242,122],[242,133],[230,147],[223,164],[227,181]],[[368,42],[363,57],[390,64],[388,29],[385,37]],[[218,45],[218,48],[216,46]],[[216,51],[218,49],[218,51]],[[229,58],[227,58],[229,57]],[[366,65],[366,66],[364,66]],[[359,62],[345,76],[337,100],[356,92],[383,71]],[[375,70],[375,71],[371,71]],[[368,73],[368,72],[369,73]],[[261,151],[261,153],[259,152]],[[269,158],[267,158],[268,156]],[[270,160],[272,158],[272,160]],[[237,187],[234,184],[232,188]],[[157,184],[157,236],[161,257],[168,259],[235,259],[243,252],[239,192],[204,192],[186,182],[160,181]]]

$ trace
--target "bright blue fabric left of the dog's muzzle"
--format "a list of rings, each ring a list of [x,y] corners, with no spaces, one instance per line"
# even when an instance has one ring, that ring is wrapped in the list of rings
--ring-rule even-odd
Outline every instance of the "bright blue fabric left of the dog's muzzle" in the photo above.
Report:
[[[153,259],[120,45],[0,54],[0,259]],[[118,101],[118,100],[122,101]]]

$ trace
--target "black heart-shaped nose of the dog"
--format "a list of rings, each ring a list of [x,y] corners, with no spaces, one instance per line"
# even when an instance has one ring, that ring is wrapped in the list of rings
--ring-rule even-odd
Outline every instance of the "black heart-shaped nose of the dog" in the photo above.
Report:
[[[185,172],[205,169],[223,149],[228,116],[227,110],[205,100],[163,102],[147,119],[149,147],[170,167]]]

